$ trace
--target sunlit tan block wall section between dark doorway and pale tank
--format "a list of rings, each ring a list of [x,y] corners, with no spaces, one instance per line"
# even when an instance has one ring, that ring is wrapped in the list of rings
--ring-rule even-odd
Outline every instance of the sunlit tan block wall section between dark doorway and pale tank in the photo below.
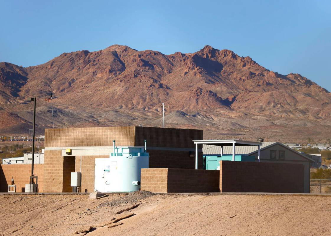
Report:
[[[81,192],[87,189],[87,192],[94,191],[94,165],[96,158],[109,158],[109,156],[82,156],[82,179]],[[80,156],[76,156],[75,171],[80,172]]]

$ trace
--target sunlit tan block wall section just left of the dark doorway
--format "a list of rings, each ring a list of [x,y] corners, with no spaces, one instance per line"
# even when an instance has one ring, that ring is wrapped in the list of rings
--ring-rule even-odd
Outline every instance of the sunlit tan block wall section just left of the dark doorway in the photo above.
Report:
[[[63,156],[61,150],[45,150],[44,193],[63,192]]]

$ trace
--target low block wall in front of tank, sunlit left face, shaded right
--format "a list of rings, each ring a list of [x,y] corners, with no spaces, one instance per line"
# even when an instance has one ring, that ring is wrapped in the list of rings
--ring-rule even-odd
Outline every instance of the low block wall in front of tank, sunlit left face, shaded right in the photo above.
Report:
[[[168,193],[219,192],[219,171],[202,169],[141,169],[141,190]]]

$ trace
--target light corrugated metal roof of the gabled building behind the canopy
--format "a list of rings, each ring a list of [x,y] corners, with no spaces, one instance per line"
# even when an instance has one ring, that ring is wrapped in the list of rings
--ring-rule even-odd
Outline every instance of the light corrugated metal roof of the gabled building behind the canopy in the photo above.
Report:
[[[266,147],[272,146],[278,142],[265,142],[262,143],[260,146],[260,149],[264,149]],[[251,153],[257,152],[258,146],[236,146],[235,153],[237,155],[249,155]],[[220,153],[220,147],[214,146],[214,145],[207,145],[204,144],[202,146],[202,152],[204,155],[208,154],[219,154]],[[225,146],[223,147],[223,154],[232,154],[232,147],[231,146]]]

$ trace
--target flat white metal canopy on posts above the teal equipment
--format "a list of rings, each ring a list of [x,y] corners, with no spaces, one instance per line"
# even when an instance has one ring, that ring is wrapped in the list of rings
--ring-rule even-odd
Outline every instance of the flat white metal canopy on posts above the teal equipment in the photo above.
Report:
[[[223,155],[223,146],[232,146],[232,161],[234,161],[235,157],[235,147],[236,146],[258,146],[258,162],[260,162],[260,146],[262,143],[260,142],[252,142],[245,140],[193,140],[195,143],[195,169],[198,169],[198,144],[208,144],[220,146],[220,154]]]

